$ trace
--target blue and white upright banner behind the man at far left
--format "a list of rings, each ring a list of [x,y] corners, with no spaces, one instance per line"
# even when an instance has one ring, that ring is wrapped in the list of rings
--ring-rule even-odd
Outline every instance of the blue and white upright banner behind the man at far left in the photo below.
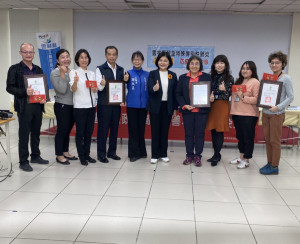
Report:
[[[36,33],[41,67],[47,76],[48,87],[53,89],[50,73],[56,66],[56,52],[61,48],[61,32]]]

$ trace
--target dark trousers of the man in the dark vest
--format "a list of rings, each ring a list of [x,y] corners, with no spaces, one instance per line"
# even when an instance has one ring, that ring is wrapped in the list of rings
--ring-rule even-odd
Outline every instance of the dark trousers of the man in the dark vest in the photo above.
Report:
[[[117,138],[121,115],[120,106],[98,105],[98,134],[97,154],[99,157],[106,157],[106,142],[109,131],[109,147],[107,154],[115,155],[117,151]]]

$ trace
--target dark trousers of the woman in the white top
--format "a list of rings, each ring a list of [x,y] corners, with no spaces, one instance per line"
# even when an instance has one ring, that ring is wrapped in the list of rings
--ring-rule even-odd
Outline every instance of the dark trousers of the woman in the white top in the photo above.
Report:
[[[80,160],[90,155],[92,134],[95,123],[95,108],[74,108],[76,123],[76,148]]]

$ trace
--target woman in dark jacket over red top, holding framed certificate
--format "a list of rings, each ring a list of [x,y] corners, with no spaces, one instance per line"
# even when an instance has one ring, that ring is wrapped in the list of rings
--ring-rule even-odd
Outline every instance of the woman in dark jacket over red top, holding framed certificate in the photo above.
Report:
[[[192,82],[211,82],[211,76],[202,72],[202,60],[196,55],[189,58],[186,69],[189,72],[179,77],[176,89],[176,98],[182,112],[185,130],[186,159],[183,164],[189,165],[194,161],[195,166],[200,167],[206,120],[210,108],[195,108],[190,105],[190,87]]]

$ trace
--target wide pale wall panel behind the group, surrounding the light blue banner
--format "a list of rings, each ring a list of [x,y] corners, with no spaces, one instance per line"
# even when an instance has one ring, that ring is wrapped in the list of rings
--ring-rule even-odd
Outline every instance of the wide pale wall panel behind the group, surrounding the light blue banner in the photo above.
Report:
[[[147,45],[214,46],[215,55],[228,56],[234,77],[246,60],[256,63],[259,77],[271,72],[267,57],[274,50],[288,52],[292,21],[291,15],[202,13],[76,12],[74,17],[75,49],[90,51],[91,70],[105,61],[107,45],[119,48],[118,63],[125,69],[131,68],[132,52],[146,57]]]

